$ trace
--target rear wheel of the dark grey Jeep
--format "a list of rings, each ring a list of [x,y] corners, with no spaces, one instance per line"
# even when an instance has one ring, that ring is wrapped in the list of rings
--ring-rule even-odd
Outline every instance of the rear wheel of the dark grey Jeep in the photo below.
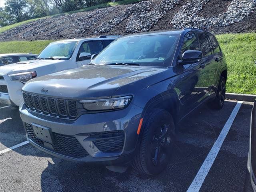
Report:
[[[226,95],[226,80],[223,76],[220,76],[220,82],[218,84],[218,89],[216,96],[212,102],[210,102],[210,107],[213,109],[220,110],[224,105]]]

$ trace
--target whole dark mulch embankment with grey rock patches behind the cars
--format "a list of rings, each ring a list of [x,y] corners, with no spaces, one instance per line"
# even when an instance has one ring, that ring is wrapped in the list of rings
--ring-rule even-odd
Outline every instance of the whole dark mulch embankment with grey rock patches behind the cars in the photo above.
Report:
[[[256,0],[147,0],[36,20],[1,33],[0,40],[124,35],[196,27],[214,33],[256,31]]]

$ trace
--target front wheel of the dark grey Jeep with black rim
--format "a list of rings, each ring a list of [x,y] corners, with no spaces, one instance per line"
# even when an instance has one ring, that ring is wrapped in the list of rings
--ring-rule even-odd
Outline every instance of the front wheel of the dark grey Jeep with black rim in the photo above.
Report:
[[[156,175],[166,168],[170,160],[174,120],[166,110],[155,109],[143,124],[139,149],[132,166],[144,174]]]

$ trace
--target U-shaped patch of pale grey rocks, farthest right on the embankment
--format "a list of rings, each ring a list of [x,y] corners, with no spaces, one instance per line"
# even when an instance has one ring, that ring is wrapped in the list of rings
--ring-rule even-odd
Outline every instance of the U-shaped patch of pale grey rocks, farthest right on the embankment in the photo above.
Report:
[[[198,12],[203,10],[204,6],[210,0],[192,0],[182,6],[180,11],[175,14],[170,22],[174,28],[181,29],[186,27],[210,28],[218,26],[229,26],[235,22],[242,21],[249,16],[256,6],[255,0],[233,0],[228,5],[227,10],[217,17],[200,17]]]

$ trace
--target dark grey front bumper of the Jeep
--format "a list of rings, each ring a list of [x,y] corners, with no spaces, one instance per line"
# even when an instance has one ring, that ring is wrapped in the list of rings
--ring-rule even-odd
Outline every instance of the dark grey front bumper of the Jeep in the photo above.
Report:
[[[130,104],[123,110],[83,114],[76,120],[62,120],[38,116],[28,111],[25,105],[20,106],[20,117],[32,145],[66,160],[105,165],[126,164],[131,160],[137,145],[141,113],[142,108]],[[54,138],[52,143],[38,142],[37,138],[31,137],[31,128],[28,130],[26,125],[50,128]],[[68,154],[63,150],[68,150]],[[83,150],[85,155],[80,154]],[[70,151],[79,155],[71,155]]]

